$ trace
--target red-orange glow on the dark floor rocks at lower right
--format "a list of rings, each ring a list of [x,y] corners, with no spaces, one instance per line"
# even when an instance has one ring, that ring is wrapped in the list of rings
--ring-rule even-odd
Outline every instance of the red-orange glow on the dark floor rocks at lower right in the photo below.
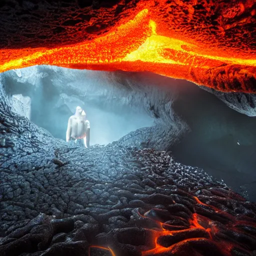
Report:
[[[231,219],[229,224],[227,224],[229,230],[233,230],[234,232],[237,231],[238,229],[236,229],[236,226],[241,223],[255,226],[255,223],[252,222],[237,221],[235,217],[221,211],[220,209],[212,207],[211,205],[201,202],[197,197],[194,197],[194,199],[197,204],[211,209],[213,216],[214,212],[220,212],[224,216],[228,215]],[[143,215],[139,213],[139,215],[142,218],[148,218],[147,212],[145,212]],[[214,250],[219,251],[219,253],[221,252],[222,255],[228,256],[231,255],[231,251],[234,247],[241,248],[241,246],[235,243],[235,241],[228,239],[220,240],[218,237],[220,237],[222,232],[220,228],[221,224],[218,221],[212,220],[211,218],[205,217],[198,213],[193,213],[189,219],[189,227],[181,230],[175,230],[174,226],[166,225],[165,223],[155,219],[154,221],[159,224],[159,228],[151,229],[151,239],[153,245],[151,249],[142,251],[142,256],[168,255],[168,253],[170,255],[184,255],[182,254],[184,251],[186,251],[186,253],[189,251],[189,255],[204,255],[203,253],[198,254],[198,252],[196,252],[196,250],[194,251],[193,248],[196,246],[203,247],[206,244],[210,244]]]

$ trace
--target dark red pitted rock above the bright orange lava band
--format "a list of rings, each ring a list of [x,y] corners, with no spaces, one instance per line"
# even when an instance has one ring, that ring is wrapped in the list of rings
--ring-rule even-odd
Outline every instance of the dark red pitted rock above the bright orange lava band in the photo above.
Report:
[[[255,52],[255,3],[145,0],[4,0],[0,5],[0,48],[51,47],[97,37],[118,20],[148,7],[176,35],[234,51]],[[28,22],[29,20],[29,22]],[[18,26],[17,26],[18,22]]]

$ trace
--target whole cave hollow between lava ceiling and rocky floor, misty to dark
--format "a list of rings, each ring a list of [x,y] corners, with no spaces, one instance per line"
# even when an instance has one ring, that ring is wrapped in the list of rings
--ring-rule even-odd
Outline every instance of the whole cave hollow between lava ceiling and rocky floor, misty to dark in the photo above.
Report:
[[[90,145],[143,127],[158,127],[150,131],[156,138],[163,136],[159,127],[172,128],[171,137],[161,138],[169,145],[158,143],[157,149],[171,150],[176,160],[202,167],[256,201],[256,118],[191,82],[150,73],[35,66],[5,72],[4,84],[12,110],[59,139],[65,139],[77,105],[90,121]]]

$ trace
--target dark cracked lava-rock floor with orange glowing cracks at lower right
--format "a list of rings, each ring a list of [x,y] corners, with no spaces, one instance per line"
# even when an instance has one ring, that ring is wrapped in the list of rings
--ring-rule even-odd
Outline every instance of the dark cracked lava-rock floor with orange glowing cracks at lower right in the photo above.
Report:
[[[4,102],[0,255],[255,255],[255,203],[202,169],[125,139],[67,144]]]

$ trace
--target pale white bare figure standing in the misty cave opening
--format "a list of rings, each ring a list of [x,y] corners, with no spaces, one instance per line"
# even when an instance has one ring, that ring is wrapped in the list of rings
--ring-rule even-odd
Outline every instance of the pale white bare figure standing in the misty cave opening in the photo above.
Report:
[[[75,114],[67,122],[66,141],[75,140],[82,146],[89,147],[90,123],[86,120],[86,113],[80,106],[76,107]]]

